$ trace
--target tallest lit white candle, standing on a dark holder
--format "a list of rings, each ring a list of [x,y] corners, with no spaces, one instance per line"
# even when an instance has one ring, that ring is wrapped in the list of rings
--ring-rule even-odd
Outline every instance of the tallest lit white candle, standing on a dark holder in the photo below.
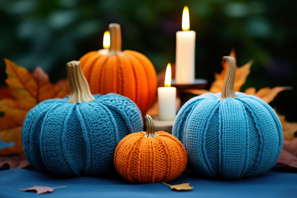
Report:
[[[175,80],[178,84],[191,84],[195,80],[195,38],[196,32],[190,31],[189,9],[184,7],[182,30],[176,32]]]

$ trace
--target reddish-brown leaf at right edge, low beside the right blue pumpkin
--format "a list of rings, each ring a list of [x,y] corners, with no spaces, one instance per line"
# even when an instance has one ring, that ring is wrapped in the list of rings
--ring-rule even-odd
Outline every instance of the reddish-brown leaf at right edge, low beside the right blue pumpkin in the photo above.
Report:
[[[297,168],[297,138],[284,140],[277,164]]]

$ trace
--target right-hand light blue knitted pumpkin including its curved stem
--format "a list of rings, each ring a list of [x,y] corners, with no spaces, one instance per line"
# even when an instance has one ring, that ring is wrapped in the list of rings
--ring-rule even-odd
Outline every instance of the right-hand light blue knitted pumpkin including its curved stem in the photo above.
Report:
[[[282,149],[282,126],[256,96],[234,93],[235,60],[228,62],[222,94],[202,94],[178,112],[173,135],[185,146],[196,172],[218,178],[254,176],[269,170]]]

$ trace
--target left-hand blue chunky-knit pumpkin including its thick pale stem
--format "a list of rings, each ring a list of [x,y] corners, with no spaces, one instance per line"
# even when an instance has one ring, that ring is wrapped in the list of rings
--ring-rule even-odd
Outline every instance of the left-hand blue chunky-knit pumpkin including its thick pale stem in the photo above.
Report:
[[[113,167],[119,140],[143,130],[142,115],[124,96],[92,96],[78,61],[67,63],[67,73],[70,96],[40,102],[26,115],[24,153],[38,170],[100,176]]]

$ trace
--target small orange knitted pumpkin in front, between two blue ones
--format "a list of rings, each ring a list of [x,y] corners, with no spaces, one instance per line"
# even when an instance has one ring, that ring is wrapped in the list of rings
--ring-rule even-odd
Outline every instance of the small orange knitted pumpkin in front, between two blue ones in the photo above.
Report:
[[[145,118],[146,132],[129,134],[116,147],[116,170],[133,183],[174,180],[186,168],[186,150],[173,135],[163,131],[155,133],[151,116]]]

